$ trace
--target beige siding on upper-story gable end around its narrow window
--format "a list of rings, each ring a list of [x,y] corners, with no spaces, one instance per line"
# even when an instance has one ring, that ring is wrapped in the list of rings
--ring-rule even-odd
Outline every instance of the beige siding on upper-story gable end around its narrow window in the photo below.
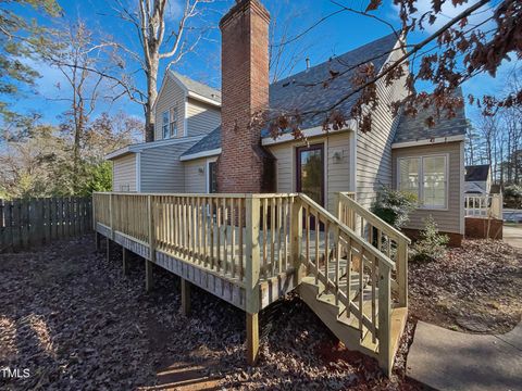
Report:
[[[163,112],[170,111],[174,106],[177,108],[177,137],[184,136],[185,91],[171,77],[167,77],[164,83],[165,85],[163,86],[156,103],[154,140],[163,139]]]

